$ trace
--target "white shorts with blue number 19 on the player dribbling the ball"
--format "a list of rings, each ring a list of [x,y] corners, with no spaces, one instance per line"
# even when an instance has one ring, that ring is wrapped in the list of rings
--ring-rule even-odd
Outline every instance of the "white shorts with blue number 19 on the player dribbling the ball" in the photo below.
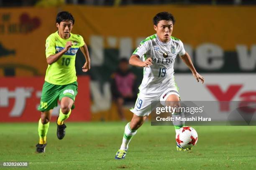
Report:
[[[167,100],[169,95],[177,95],[179,97],[179,91],[177,89],[177,86],[169,86],[166,90],[156,93],[154,95],[145,95],[140,92],[138,94],[138,98],[135,102],[134,108],[131,108],[130,110],[137,116],[148,116],[154,109],[151,108],[151,102],[160,101],[161,105],[165,105],[165,101]]]

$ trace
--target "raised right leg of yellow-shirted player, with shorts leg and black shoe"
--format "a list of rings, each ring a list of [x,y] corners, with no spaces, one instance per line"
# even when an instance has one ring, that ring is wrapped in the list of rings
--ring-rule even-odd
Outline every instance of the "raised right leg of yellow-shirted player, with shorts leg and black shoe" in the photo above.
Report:
[[[59,100],[61,108],[59,110],[59,117],[57,118],[57,137],[59,140],[63,139],[66,133],[67,126],[64,121],[69,118],[71,110],[74,109],[74,100],[77,95],[77,82],[61,87]]]

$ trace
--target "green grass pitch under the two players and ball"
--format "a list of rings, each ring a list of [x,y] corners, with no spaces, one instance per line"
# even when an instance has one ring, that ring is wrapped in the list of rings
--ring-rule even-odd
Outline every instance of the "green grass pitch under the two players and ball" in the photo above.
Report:
[[[58,140],[51,122],[45,154],[35,153],[36,123],[0,124],[0,161],[28,161],[25,169],[33,170],[256,168],[255,126],[197,126],[197,146],[177,152],[173,127],[146,123],[131,141],[125,160],[115,160],[125,124],[67,122],[67,134]]]

